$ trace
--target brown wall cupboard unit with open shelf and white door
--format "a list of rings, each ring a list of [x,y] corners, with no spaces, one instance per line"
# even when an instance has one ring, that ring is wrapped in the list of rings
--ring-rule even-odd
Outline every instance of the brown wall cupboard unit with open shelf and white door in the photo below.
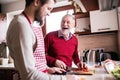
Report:
[[[87,12],[76,12],[74,8],[74,15],[76,18],[76,34],[88,35],[98,33],[108,33],[118,31],[117,10],[100,11],[98,8],[98,1],[89,3],[88,0],[81,0]],[[91,7],[92,6],[92,7]],[[83,30],[87,27],[87,30]]]

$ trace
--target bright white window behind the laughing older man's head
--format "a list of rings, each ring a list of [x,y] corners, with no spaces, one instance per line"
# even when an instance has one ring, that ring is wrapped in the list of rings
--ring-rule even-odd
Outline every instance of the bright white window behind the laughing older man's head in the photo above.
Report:
[[[73,14],[73,9],[65,10],[65,11],[59,11],[51,13],[50,16],[46,17],[46,33],[49,33],[51,31],[59,30],[61,27],[61,19],[65,14]]]

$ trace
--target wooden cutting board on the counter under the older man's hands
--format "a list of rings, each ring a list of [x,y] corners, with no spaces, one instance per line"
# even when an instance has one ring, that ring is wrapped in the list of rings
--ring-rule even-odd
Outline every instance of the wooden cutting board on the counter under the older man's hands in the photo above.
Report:
[[[81,71],[78,68],[72,68],[67,74],[75,74],[75,75],[93,75],[95,72],[94,69],[88,69],[88,71]]]

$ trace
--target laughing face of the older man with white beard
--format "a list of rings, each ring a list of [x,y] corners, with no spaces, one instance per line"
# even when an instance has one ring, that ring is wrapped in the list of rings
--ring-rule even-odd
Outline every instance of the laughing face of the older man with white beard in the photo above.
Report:
[[[70,30],[74,27],[75,27],[75,21],[71,16],[63,17],[61,22],[61,30],[64,34],[69,33]]]

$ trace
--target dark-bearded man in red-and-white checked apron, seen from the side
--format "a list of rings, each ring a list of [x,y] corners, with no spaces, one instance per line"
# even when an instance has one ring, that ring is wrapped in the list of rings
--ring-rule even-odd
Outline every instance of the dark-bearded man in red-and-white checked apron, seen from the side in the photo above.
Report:
[[[65,71],[46,65],[41,26],[54,3],[54,0],[26,0],[24,11],[10,23],[7,45],[21,80],[70,80],[68,76],[47,74]]]

